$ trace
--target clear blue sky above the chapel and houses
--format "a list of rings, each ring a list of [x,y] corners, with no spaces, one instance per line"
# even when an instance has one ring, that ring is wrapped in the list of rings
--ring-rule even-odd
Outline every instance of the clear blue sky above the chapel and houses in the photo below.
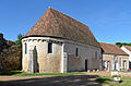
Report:
[[[48,7],[90,26],[98,41],[131,42],[131,0],[0,0],[0,33],[16,40]]]

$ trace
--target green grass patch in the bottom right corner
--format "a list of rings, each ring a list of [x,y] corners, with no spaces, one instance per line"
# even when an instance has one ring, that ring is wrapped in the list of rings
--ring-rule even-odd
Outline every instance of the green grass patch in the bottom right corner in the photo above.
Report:
[[[121,77],[121,83],[114,82],[112,77],[98,77],[96,79],[97,83],[102,83],[104,85],[109,85],[109,86],[131,86],[131,77]]]

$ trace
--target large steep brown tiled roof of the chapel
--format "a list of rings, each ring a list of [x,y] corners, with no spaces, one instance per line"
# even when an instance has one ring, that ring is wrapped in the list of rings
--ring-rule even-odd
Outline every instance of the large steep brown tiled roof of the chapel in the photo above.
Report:
[[[90,46],[100,47],[87,25],[51,8],[46,11],[24,37],[31,36],[59,37]]]

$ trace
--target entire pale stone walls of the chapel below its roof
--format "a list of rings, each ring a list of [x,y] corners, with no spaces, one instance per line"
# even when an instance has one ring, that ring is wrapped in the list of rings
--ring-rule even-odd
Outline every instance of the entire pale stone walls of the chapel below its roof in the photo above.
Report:
[[[25,72],[28,70],[28,51],[34,47],[37,51],[39,73],[85,71],[85,60],[87,60],[88,70],[102,70],[100,48],[52,37],[27,37],[22,39],[22,65]],[[52,42],[52,53],[48,53],[48,42]],[[27,53],[25,53],[25,44]],[[76,48],[79,49],[78,57],[75,57]]]

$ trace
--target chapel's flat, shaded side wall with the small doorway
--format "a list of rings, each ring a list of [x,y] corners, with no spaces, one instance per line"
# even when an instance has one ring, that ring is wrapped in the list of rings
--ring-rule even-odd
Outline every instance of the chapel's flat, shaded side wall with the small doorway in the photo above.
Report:
[[[76,48],[78,57],[75,57]],[[85,60],[87,60],[87,70],[102,70],[100,48],[69,40],[64,44],[63,53],[68,54],[68,71],[85,71]]]

